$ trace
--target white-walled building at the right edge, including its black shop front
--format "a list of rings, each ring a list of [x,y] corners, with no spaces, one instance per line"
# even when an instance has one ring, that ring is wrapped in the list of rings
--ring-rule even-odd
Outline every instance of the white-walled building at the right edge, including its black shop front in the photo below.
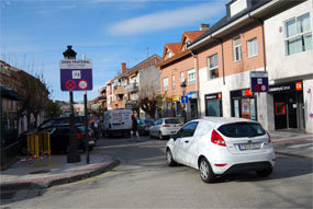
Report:
[[[313,1],[265,21],[268,129],[313,132]]]

